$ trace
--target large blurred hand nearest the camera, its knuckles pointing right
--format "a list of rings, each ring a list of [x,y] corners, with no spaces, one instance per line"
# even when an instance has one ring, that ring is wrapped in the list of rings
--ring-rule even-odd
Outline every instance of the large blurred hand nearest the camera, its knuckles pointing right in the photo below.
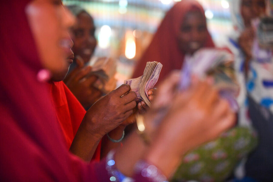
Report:
[[[212,83],[199,81],[176,94],[172,102],[145,157],[167,176],[186,152],[215,139],[235,121],[229,104],[218,96]]]

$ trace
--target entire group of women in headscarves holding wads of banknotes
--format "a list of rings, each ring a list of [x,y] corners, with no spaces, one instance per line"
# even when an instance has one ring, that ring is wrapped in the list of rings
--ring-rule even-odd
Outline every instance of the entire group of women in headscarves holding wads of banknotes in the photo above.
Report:
[[[84,7],[1,2],[0,181],[272,181],[273,1],[229,5],[217,47],[176,2],[120,85]]]

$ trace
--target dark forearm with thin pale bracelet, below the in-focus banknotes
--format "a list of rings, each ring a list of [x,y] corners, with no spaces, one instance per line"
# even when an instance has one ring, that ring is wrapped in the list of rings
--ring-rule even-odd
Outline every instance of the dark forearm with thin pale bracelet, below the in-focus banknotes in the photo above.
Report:
[[[114,140],[119,140],[123,136],[123,131],[125,126],[118,126],[116,129],[112,130],[108,133],[110,138]],[[115,143],[109,140],[109,138],[105,135],[102,139],[102,148],[101,148],[101,158],[106,157],[107,153],[111,150],[120,147],[121,142]]]

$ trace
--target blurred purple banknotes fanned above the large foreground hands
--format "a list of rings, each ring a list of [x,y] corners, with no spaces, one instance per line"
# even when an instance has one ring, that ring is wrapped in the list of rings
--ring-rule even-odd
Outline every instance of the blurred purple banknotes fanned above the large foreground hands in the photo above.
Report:
[[[187,57],[182,67],[180,89],[187,89],[191,76],[199,78],[212,76],[214,85],[219,89],[219,94],[227,99],[234,111],[238,110],[235,100],[239,94],[239,85],[233,68],[233,55],[221,49],[200,49],[193,56]]]

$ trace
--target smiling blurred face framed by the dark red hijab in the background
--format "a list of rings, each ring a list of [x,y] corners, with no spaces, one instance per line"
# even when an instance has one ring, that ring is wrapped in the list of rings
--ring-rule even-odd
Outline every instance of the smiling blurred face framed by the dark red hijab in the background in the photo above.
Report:
[[[181,25],[178,45],[182,52],[193,54],[207,39],[206,21],[200,12],[189,12]]]

